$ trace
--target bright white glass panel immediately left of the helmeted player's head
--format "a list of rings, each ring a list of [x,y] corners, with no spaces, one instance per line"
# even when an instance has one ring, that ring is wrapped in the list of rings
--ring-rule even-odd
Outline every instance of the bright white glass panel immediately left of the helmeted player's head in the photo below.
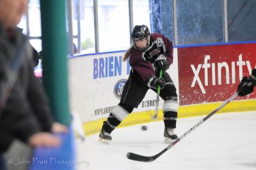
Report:
[[[127,0],[99,0],[99,51],[125,50],[130,46]],[[90,25],[88,25],[90,26]]]

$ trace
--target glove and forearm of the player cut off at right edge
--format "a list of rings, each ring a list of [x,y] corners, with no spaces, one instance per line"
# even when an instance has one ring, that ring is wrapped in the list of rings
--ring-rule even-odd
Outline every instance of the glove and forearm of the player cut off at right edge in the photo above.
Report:
[[[244,97],[253,92],[253,88],[256,86],[256,68],[252,70],[250,77],[243,77],[238,85],[238,95]]]

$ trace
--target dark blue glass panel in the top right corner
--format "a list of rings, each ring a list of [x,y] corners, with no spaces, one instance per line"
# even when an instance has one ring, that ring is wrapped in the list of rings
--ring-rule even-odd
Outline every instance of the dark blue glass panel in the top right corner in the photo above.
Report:
[[[228,0],[228,42],[256,40],[256,1]]]

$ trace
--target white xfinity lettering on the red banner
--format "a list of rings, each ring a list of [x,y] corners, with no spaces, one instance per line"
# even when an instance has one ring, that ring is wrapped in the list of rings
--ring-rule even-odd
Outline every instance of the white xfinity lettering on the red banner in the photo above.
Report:
[[[222,78],[221,76],[224,76],[226,78],[226,82],[225,82],[226,84],[230,84],[230,81],[232,84],[236,84],[237,68],[239,70],[239,80],[243,78],[243,66],[247,66],[249,73],[252,72],[252,66],[250,61],[243,61],[242,54],[239,55],[238,61],[232,61],[231,63],[227,63],[227,62],[209,63],[208,61],[210,59],[211,59],[211,56],[209,55],[205,56],[204,63],[199,64],[197,68],[195,67],[195,65],[190,65],[195,75],[191,84],[191,88],[195,87],[195,84],[197,82],[202,93],[204,94],[206,93],[205,86],[209,85],[209,77],[211,77],[212,79],[212,86],[215,86],[216,82],[218,83],[218,85],[221,85],[223,83],[221,82],[221,78]],[[231,66],[231,73],[230,73],[230,66]],[[209,69],[211,69],[212,75],[208,75]],[[199,77],[199,72],[201,70],[203,70],[204,72],[204,82],[202,82]]]

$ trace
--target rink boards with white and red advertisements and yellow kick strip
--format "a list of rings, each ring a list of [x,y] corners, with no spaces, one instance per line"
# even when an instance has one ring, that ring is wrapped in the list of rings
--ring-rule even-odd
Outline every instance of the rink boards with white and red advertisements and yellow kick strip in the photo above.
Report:
[[[209,114],[236,93],[239,80],[255,68],[255,43],[178,47],[168,73],[179,96],[179,118]],[[73,56],[68,60],[70,109],[79,114],[86,135],[99,132],[102,122],[120,102],[131,67],[125,51]],[[179,69],[178,69],[179,68]],[[255,94],[237,98],[220,112],[256,109]],[[158,120],[163,120],[163,100]],[[120,127],[152,121],[156,93],[149,90]]]

